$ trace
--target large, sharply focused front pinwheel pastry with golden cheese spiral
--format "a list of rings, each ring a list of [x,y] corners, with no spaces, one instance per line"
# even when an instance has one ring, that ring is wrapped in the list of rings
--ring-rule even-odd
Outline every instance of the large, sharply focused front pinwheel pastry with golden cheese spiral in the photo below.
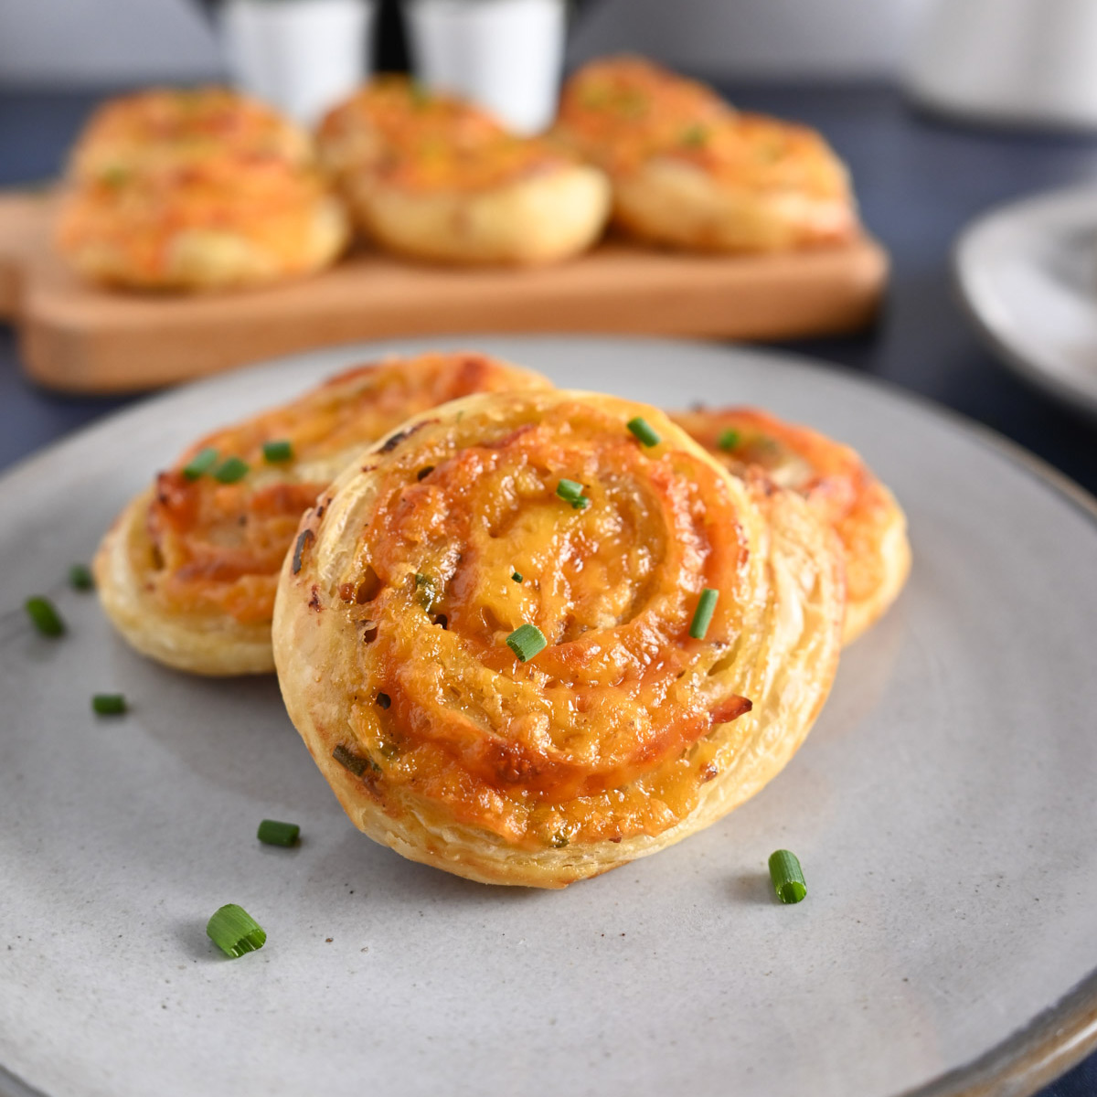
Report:
[[[360,829],[559,887],[777,773],[841,618],[840,551],[800,496],[731,475],[653,408],[553,391],[455,402],[348,467],[302,520],[273,637],[290,716]]]

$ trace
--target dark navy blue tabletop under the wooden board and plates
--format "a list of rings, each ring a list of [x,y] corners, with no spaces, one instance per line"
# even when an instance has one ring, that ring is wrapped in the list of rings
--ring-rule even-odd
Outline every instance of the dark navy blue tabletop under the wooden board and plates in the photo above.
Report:
[[[1097,428],[1007,373],[958,303],[957,234],[998,203],[1097,182],[1097,136],[963,127],[920,115],[875,83],[722,83],[739,105],[817,126],[850,165],[866,224],[892,257],[870,331],[782,344],[927,396],[1002,432],[1097,493]],[[101,93],[0,90],[0,186],[55,176]],[[136,396],[73,397],[38,388],[0,326],[0,468]],[[1078,977],[1086,974],[1079,971]],[[1097,1094],[1097,1054],[1041,1097]]]

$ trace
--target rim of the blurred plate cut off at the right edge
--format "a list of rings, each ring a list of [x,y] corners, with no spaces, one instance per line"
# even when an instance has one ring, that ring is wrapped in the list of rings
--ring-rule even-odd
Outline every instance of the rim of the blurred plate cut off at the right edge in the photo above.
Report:
[[[1047,211],[1054,212],[1086,194],[1097,199],[1097,185],[1077,183],[1073,186],[1041,191],[992,206],[961,229],[952,245],[949,267],[954,294],[960,306],[971,320],[976,333],[989,347],[998,361],[1015,376],[1053,396],[1073,410],[1097,417],[1097,380],[1095,380],[1092,389],[1081,384],[1064,381],[1056,372],[1042,364],[1041,355],[1030,357],[1018,350],[1016,344],[980,306],[979,294],[973,289],[974,274],[972,273],[975,249],[983,238],[1003,222],[1011,222],[1018,215],[1039,215]]]

